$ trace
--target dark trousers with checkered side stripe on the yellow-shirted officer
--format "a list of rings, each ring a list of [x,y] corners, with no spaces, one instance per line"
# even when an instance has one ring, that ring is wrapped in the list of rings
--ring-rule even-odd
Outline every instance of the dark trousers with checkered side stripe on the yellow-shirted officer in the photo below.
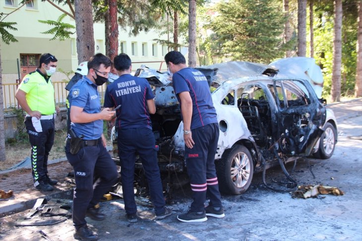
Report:
[[[48,173],[48,156],[54,144],[54,119],[40,120],[43,132],[37,132],[31,117],[25,117],[25,127],[31,145],[31,167],[34,182],[46,180]]]

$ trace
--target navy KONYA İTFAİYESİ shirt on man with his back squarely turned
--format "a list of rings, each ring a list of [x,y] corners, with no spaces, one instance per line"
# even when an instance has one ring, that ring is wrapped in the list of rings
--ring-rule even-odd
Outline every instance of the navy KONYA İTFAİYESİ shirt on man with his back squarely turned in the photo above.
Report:
[[[124,74],[107,86],[104,107],[121,104],[116,111],[118,128],[147,127],[152,130],[147,100],[154,97],[146,79]]]

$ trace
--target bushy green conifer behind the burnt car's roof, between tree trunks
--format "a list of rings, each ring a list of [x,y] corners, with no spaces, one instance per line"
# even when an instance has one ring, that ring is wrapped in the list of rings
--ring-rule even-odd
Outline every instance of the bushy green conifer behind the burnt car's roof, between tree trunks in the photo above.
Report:
[[[219,52],[233,60],[269,63],[284,54],[286,21],[280,2],[270,0],[229,0],[216,5],[210,23]]]

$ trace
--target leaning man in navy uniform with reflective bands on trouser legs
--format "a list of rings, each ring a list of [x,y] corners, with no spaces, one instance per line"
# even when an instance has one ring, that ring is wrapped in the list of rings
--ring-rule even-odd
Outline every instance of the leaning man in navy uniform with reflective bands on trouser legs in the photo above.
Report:
[[[206,216],[223,218],[214,163],[219,125],[207,79],[200,71],[186,66],[181,52],[168,52],[165,61],[173,73],[173,87],[181,106],[186,167],[193,198],[189,211],[177,218],[181,222],[204,222]],[[210,203],[205,208],[206,194]]]

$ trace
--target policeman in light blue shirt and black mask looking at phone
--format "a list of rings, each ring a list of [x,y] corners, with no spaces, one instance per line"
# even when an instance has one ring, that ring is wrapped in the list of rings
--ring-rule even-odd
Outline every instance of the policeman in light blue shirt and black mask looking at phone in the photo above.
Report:
[[[114,118],[116,111],[109,108],[101,110],[97,90],[98,86],[107,81],[111,65],[112,61],[107,56],[97,53],[88,61],[87,76],[83,76],[70,91],[70,132],[73,135],[71,138],[68,135],[65,154],[74,169],[76,187],[72,215],[74,238],[80,240],[98,239],[87,227],[85,216],[104,220],[105,215],[99,211],[97,203],[118,180],[117,167],[106,150],[103,135],[103,120]],[[99,178],[93,185],[94,176]]]

